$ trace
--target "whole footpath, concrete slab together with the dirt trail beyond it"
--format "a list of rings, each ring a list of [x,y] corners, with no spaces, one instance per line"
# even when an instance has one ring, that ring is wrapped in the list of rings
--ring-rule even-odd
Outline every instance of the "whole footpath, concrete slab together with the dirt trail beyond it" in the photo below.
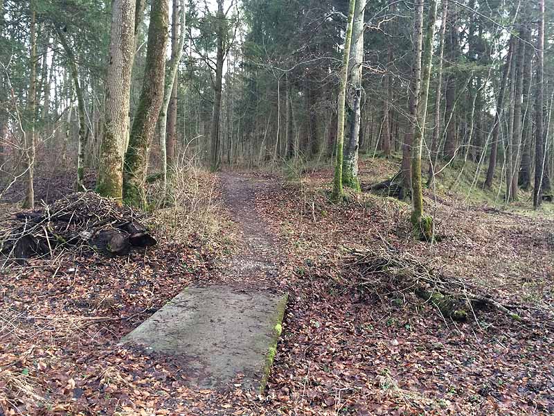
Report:
[[[191,284],[129,333],[123,343],[174,356],[199,388],[265,386],[287,294],[279,287],[278,239],[256,211],[256,194],[274,182],[220,175],[225,207],[237,223],[240,250],[209,282]],[[207,285],[205,283],[208,283]]]

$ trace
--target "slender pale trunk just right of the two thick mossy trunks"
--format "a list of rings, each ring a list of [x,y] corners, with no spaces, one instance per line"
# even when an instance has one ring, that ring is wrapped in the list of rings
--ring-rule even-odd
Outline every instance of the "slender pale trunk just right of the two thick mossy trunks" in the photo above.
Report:
[[[181,56],[183,55],[183,46],[185,44],[185,2],[184,0],[173,0],[174,5],[180,4],[179,7],[181,8],[181,12],[179,13],[179,26],[181,26],[181,31],[179,32],[179,41],[178,44],[172,44],[172,55],[171,60],[169,62],[169,70],[168,70],[168,76],[166,79],[166,87],[163,92],[163,103],[161,104],[161,110],[159,115],[159,121],[158,124],[160,126],[160,150],[161,150],[161,172],[163,175],[163,189],[164,192],[167,190],[168,187],[168,159],[172,160],[172,157],[175,157],[175,135],[177,135],[177,132],[175,129],[177,128],[177,97],[175,97],[175,114],[172,114],[171,117],[175,117],[175,120],[172,120],[170,118],[170,121],[168,122],[168,107],[170,103],[174,100],[174,92],[177,92],[178,89],[178,83],[177,83],[177,72],[179,69],[179,62],[181,61]],[[173,12],[176,13],[177,9],[179,7],[173,7]],[[177,19],[173,19],[173,24],[175,25],[175,22]],[[177,42],[177,39],[175,37],[177,36],[177,27],[175,27],[175,31],[173,32],[174,40],[172,42]],[[167,125],[167,128],[166,128]],[[168,132],[168,135],[170,136],[169,142],[172,143],[171,146],[166,146],[166,132]],[[173,137],[171,137],[173,135]],[[173,154],[171,154],[170,150],[172,149]],[[168,155],[169,153],[169,155]],[[170,157],[168,157],[170,156]]]

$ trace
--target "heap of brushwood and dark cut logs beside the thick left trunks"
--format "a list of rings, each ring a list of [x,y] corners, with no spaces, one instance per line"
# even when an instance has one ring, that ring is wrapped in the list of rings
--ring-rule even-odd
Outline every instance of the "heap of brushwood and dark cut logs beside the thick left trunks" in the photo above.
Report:
[[[17,261],[51,256],[60,248],[125,256],[157,243],[141,214],[96,193],[73,193],[38,211],[15,214],[0,229],[0,252]]]

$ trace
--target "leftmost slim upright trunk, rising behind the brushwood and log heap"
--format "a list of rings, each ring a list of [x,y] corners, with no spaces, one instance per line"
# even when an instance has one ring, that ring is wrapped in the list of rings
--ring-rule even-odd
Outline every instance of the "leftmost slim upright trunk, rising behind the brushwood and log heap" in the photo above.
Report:
[[[22,207],[35,207],[35,188],[33,175],[35,171],[35,109],[37,107],[37,12],[35,1],[30,1],[30,53],[29,53],[29,91],[27,97],[26,127],[23,132],[23,151],[26,193]]]

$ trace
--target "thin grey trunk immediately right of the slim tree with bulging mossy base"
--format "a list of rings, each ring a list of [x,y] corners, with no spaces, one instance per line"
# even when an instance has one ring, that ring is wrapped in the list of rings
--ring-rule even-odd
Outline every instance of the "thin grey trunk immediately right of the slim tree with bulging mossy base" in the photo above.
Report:
[[[443,96],[443,59],[445,56],[446,19],[448,17],[448,0],[443,0],[443,15],[440,19],[440,40],[438,42],[438,68],[435,98],[435,113],[433,123],[433,136],[431,138],[431,154],[429,155],[429,173],[427,186],[431,186],[435,179],[435,168],[438,160],[438,141],[440,137],[440,98]]]

